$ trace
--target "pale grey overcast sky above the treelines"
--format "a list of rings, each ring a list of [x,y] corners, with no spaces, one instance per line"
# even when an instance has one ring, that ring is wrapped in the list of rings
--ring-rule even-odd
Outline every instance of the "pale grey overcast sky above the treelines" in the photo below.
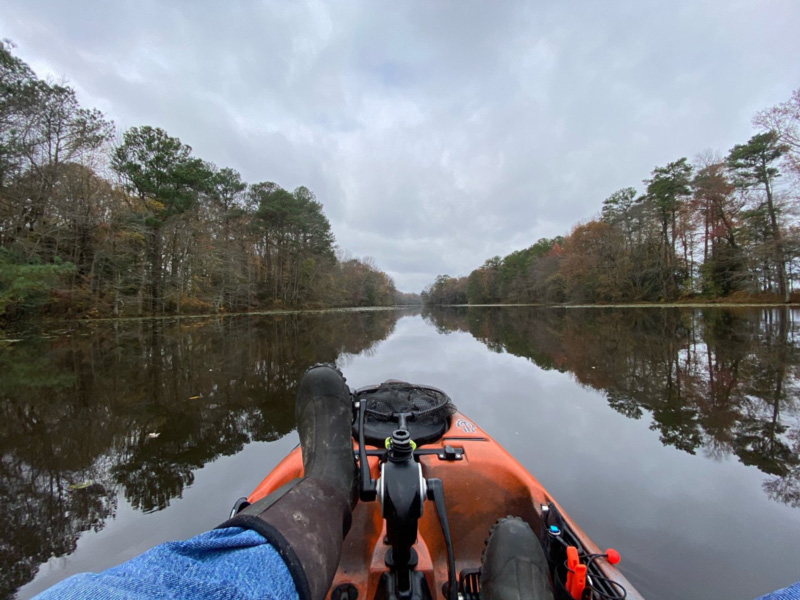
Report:
[[[797,0],[6,0],[0,37],[120,130],[306,185],[404,291],[569,233],[800,87]]]

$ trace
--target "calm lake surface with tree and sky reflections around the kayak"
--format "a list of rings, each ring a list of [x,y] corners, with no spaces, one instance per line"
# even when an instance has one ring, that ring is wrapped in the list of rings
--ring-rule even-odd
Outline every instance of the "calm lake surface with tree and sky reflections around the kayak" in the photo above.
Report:
[[[296,444],[307,366],[429,383],[650,599],[800,579],[800,312],[370,311],[102,323],[0,345],[0,597],[223,521]]]

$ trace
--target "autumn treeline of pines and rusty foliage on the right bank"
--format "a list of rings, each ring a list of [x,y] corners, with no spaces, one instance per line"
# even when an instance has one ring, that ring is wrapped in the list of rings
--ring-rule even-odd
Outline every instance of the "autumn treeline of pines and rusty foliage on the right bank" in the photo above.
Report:
[[[568,236],[440,275],[428,304],[790,301],[798,277],[800,89],[753,120],[726,157],[656,167]]]

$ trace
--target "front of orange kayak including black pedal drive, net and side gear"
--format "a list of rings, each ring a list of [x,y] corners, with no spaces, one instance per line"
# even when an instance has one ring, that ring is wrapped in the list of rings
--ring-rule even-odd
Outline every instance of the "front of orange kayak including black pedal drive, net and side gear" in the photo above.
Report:
[[[393,393],[400,388],[403,393],[438,393],[449,410],[439,410],[431,420],[426,410],[436,411],[416,401],[410,409],[384,402],[382,415],[375,398],[388,387]],[[486,538],[506,515],[522,518],[542,542],[555,598],[641,598],[612,564],[619,555],[592,542],[513,456],[456,411],[446,394],[386,382],[358,390],[354,399],[353,450],[363,467],[362,501],[353,511],[331,600],[452,600],[456,587],[449,582],[456,579],[461,598],[480,598]],[[247,500],[254,503],[302,476],[298,446]],[[400,593],[409,589],[416,591]]]

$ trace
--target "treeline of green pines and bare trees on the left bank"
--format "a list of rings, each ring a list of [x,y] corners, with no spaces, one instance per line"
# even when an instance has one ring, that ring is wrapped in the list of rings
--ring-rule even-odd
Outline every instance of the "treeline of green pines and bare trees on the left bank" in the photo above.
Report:
[[[0,320],[419,302],[339,253],[313,192],[113,123],[0,43]],[[416,297],[415,297],[416,296]]]

